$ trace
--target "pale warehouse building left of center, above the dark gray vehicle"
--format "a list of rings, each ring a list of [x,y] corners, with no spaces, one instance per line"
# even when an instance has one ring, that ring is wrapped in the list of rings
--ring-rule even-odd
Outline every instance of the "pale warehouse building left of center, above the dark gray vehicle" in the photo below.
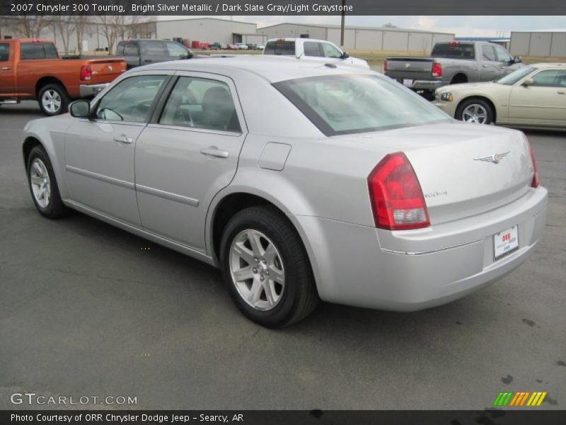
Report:
[[[256,35],[256,24],[219,18],[193,18],[156,21],[151,38],[187,38],[203,42],[262,42]],[[255,37],[254,37],[255,36]],[[256,40],[257,39],[257,40]]]

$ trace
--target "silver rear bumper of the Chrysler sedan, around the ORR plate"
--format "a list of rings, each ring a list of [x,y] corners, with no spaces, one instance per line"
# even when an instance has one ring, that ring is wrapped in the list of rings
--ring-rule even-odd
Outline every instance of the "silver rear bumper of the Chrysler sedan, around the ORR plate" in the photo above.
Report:
[[[547,191],[427,229],[388,232],[318,217],[293,217],[304,232],[320,297],[329,302],[414,311],[456,300],[502,278],[543,233]],[[519,225],[519,249],[493,259],[493,234]]]

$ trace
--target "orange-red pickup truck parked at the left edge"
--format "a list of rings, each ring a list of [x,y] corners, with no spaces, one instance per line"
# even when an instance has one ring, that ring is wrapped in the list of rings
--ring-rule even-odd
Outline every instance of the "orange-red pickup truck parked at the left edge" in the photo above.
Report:
[[[0,105],[35,99],[45,115],[58,115],[125,70],[122,57],[62,59],[50,40],[0,40]]]

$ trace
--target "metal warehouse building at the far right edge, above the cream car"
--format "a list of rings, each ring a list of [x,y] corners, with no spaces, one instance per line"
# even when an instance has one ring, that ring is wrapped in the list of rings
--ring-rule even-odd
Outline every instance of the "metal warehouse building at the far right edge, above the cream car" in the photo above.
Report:
[[[566,57],[566,30],[513,31],[511,54]]]

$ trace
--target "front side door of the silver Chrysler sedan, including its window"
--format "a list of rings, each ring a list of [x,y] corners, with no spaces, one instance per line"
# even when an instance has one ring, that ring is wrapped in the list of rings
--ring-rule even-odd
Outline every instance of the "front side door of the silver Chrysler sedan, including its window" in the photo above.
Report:
[[[139,225],[134,179],[135,142],[168,75],[122,79],[92,105],[90,119],[76,119],[65,137],[71,200]]]

